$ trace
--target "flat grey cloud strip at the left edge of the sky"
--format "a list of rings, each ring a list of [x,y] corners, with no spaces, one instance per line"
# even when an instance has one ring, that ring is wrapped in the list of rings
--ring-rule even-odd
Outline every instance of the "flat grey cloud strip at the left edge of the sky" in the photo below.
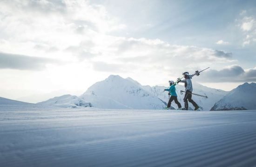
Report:
[[[46,64],[56,63],[58,61],[49,58],[36,58],[0,52],[0,69],[42,70]]]

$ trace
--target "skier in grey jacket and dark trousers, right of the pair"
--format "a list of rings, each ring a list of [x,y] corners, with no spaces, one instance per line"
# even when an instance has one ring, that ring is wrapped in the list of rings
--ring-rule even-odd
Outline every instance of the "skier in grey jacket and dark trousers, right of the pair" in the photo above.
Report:
[[[193,86],[192,86],[192,82],[191,79],[192,77],[189,75],[189,72],[184,72],[183,73],[185,81],[181,81],[182,83],[185,83],[185,96],[184,96],[184,103],[185,103],[185,108],[183,108],[182,110],[189,110],[189,103],[193,104],[193,106],[195,107],[194,110],[199,109],[199,106],[194,102],[194,100],[192,100],[192,91],[193,91]]]

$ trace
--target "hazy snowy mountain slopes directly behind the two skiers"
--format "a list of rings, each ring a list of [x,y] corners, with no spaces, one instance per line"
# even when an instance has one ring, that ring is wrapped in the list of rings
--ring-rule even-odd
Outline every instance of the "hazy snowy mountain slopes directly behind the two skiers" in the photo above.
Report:
[[[168,103],[169,96],[168,92],[164,91],[164,89],[168,87],[164,86],[143,86],[145,90],[148,92],[152,93],[154,96],[157,96],[158,98],[162,99],[162,101]],[[181,90],[185,90],[184,85],[182,83],[179,83],[178,85],[175,86],[176,88],[176,93],[178,95],[178,101],[182,104],[182,107],[184,107],[184,93],[181,95]],[[208,88],[206,86],[203,86],[199,83],[193,83],[193,93],[195,94],[200,94],[203,96],[208,96],[208,98],[200,97],[200,96],[192,96],[192,99],[197,103],[202,110],[209,110],[212,108],[212,106],[219,101],[223,96],[225,96],[228,92],[224,90],[217,90],[213,88]],[[176,109],[178,108],[177,104],[173,101],[171,104],[173,107]],[[193,105],[189,103],[190,109],[194,109]]]

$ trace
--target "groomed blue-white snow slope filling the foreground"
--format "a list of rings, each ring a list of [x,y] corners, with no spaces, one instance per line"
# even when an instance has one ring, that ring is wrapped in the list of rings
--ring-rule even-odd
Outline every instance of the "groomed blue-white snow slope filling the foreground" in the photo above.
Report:
[[[253,167],[256,110],[0,108],[1,167]]]

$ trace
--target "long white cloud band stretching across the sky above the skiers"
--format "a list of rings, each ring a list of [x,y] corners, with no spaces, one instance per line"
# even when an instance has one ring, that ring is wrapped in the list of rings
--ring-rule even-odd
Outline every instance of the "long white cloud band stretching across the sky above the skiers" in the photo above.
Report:
[[[232,53],[195,46],[170,45],[159,39],[118,39],[110,47],[116,47],[115,54],[121,61],[146,63],[189,64],[200,62],[229,62]],[[113,49],[114,50],[114,49]],[[175,65],[176,66],[176,65]]]

